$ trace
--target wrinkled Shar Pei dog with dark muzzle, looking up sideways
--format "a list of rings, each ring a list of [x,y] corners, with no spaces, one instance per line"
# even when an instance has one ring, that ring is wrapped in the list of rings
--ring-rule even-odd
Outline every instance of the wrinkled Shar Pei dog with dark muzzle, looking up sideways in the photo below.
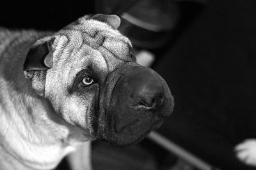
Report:
[[[138,143],[172,113],[168,85],[136,64],[119,25],[98,14],[58,32],[0,28],[0,169],[54,169],[95,139]]]

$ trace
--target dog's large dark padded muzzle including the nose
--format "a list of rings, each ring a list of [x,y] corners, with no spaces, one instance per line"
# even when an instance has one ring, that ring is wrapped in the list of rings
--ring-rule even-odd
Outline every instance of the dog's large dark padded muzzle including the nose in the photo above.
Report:
[[[173,111],[166,82],[155,71],[134,63],[118,67],[100,90],[96,136],[123,146],[145,138]]]

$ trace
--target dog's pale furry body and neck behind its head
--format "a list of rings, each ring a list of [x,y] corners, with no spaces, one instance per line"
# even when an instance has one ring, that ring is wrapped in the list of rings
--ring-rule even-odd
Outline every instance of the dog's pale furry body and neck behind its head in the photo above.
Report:
[[[57,114],[49,102],[31,89],[23,74],[29,48],[45,33],[1,30],[0,35],[0,169],[21,169],[24,164],[52,169],[86,138],[76,127],[54,117]],[[77,141],[69,140],[71,136]]]

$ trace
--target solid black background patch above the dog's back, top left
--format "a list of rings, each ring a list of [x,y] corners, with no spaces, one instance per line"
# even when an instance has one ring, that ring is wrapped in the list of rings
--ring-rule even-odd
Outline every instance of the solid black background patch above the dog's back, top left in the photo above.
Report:
[[[93,0],[4,1],[0,25],[13,29],[58,30],[94,11]]]

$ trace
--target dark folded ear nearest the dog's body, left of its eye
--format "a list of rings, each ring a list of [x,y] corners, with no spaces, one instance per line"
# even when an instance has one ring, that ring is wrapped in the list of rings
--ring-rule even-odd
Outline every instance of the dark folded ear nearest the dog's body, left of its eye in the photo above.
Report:
[[[24,71],[47,70],[52,67],[52,43],[54,38],[30,48],[24,62]]]

